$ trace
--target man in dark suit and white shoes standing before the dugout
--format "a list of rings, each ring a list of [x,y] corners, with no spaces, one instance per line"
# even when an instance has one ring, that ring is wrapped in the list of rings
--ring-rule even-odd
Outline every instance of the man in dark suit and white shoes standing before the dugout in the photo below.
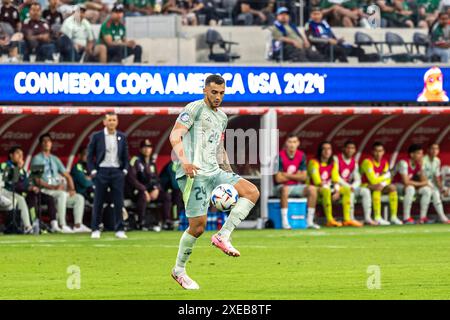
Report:
[[[94,179],[95,196],[92,212],[92,239],[100,238],[100,218],[108,187],[114,204],[116,237],[126,239],[123,228],[122,208],[124,181],[128,173],[128,144],[123,132],[117,131],[119,124],[115,113],[105,115],[105,128],[94,132],[88,146],[88,171]]]

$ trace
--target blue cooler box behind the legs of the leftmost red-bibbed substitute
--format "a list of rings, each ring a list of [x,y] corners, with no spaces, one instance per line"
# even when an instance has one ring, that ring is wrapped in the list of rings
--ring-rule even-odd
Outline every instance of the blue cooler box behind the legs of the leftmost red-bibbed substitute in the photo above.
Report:
[[[275,229],[282,229],[280,199],[269,199],[269,219]],[[292,229],[306,229],[306,199],[288,199],[288,221]]]

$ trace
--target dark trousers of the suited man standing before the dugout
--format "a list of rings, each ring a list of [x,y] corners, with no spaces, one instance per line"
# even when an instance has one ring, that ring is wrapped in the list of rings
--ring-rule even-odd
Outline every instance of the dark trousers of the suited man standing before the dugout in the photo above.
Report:
[[[103,204],[107,202],[108,188],[114,204],[114,230],[123,230],[123,193],[125,174],[118,168],[99,168],[94,178],[95,194],[92,211],[92,230],[99,230],[102,220]]]

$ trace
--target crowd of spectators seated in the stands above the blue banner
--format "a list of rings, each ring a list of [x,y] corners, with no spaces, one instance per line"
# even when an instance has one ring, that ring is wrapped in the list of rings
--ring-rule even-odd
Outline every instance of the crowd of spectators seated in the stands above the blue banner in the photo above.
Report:
[[[115,0],[114,0],[115,1]],[[2,0],[0,52],[8,61],[121,62],[142,48],[126,38],[124,16],[176,14],[185,25],[270,27],[288,61],[376,61],[337,38],[331,27],[370,27],[368,7],[380,10],[380,27],[428,29],[430,55],[449,61],[449,0]],[[303,19],[300,19],[303,12]],[[297,26],[307,21],[302,31]],[[98,35],[94,24],[101,24]],[[303,27],[303,26],[302,26]],[[281,46],[280,46],[281,47]],[[315,47],[315,50],[313,50]],[[279,54],[277,52],[274,55]]]

